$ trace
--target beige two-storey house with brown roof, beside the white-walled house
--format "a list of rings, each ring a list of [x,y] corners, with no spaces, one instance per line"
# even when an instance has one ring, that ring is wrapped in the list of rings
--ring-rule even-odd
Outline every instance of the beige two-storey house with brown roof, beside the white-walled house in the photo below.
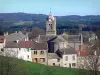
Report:
[[[48,45],[46,42],[37,43],[33,41],[31,50],[32,62],[47,64]]]

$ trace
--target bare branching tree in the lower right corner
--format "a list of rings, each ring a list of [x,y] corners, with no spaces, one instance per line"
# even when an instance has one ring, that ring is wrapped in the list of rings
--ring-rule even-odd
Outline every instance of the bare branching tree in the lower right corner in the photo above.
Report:
[[[97,37],[98,32],[96,32]],[[87,75],[99,75],[100,71],[100,39],[92,40],[91,45],[88,46],[88,55],[80,56],[80,68],[86,69]]]

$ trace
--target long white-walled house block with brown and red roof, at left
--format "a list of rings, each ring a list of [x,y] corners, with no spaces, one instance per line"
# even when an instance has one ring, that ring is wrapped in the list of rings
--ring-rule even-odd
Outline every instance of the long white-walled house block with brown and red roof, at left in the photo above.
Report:
[[[31,59],[32,41],[7,41],[4,47],[4,56],[15,57],[26,61]]]

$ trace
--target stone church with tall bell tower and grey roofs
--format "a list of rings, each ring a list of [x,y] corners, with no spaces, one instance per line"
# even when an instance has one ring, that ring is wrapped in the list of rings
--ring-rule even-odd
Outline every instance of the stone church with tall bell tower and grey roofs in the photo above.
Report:
[[[47,42],[48,52],[57,53],[60,57],[62,57],[66,49],[73,48],[74,50],[80,50],[83,44],[81,33],[79,35],[68,35],[66,33],[57,35],[56,17],[51,12],[46,19],[46,35],[38,35],[34,40],[38,43]]]

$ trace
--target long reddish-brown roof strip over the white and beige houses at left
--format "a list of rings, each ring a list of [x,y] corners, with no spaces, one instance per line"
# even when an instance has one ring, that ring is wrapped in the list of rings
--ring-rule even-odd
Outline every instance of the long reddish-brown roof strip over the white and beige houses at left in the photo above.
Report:
[[[33,50],[47,50],[48,45],[46,42],[37,43],[34,41],[7,41],[6,48],[32,48]]]

